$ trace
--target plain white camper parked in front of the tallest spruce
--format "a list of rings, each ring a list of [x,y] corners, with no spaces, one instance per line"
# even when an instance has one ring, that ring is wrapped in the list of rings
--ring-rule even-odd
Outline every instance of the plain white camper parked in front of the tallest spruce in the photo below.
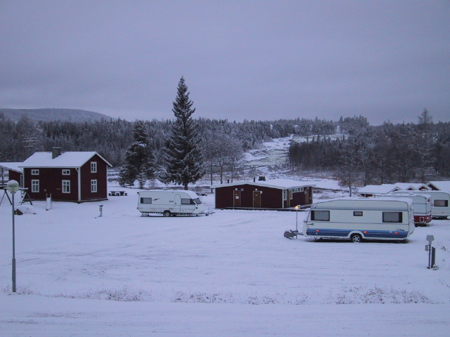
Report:
[[[163,216],[208,215],[207,209],[197,194],[186,190],[148,190],[138,192],[138,210],[143,216],[160,213]]]

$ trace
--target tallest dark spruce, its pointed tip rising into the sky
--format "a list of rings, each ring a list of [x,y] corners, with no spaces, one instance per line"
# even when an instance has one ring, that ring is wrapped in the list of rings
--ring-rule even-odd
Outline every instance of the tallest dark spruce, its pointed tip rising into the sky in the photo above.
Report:
[[[172,135],[166,140],[164,148],[165,172],[160,176],[163,183],[177,183],[188,190],[188,184],[202,178],[203,156],[198,145],[197,124],[192,118],[195,108],[189,99],[188,87],[181,77],[172,112],[175,122]]]

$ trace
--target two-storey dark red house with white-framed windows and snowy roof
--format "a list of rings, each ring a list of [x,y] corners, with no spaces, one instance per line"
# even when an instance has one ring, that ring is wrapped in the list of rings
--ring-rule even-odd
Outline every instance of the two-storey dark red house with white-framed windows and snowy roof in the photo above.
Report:
[[[99,201],[108,199],[108,167],[97,152],[34,152],[20,165],[23,186],[34,200],[51,195],[54,201]]]

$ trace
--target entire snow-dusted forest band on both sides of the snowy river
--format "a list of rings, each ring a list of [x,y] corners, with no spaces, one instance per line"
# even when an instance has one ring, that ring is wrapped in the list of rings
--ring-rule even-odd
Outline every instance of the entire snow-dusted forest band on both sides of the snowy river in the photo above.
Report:
[[[233,179],[243,153],[263,141],[302,137],[289,149],[292,171],[330,171],[348,185],[430,180],[450,176],[450,124],[433,123],[425,110],[417,124],[370,126],[365,117],[228,121],[195,119],[206,176]],[[143,121],[158,164],[173,120]],[[23,161],[35,151],[96,151],[113,166],[124,164],[133,142],[134,122],[14,122],[0,114],[0,161]],[[332,137],[335,133],[341,136]],[[205,176],[205,178],[206,178]]]

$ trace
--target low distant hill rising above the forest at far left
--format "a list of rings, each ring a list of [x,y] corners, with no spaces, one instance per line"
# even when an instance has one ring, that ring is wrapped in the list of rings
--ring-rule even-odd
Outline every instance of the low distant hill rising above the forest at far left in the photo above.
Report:
[[[18,121],[20,117],[26,116],[34,121],[101,121],[102,119],[110,120],[112,117],[100,114],[98,112],[78,110],[78,109],[0,109],[0,114],[4,117]]]

